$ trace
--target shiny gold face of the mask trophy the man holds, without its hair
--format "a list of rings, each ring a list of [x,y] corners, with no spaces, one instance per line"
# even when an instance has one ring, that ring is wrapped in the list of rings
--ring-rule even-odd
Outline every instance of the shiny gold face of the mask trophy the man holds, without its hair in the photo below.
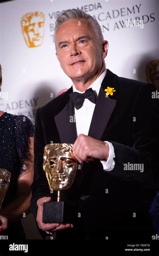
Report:
[[[72,185],[77,168],[77,160],[69,151],[51,150],[45,155],[44,169],[53,190],[68,189]]]

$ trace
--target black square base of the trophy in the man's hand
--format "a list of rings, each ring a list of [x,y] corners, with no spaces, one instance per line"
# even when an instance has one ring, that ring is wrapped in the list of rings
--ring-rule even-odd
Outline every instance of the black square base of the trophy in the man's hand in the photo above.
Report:
[[[43,203],[43,223],[64,223],[63,202]]]

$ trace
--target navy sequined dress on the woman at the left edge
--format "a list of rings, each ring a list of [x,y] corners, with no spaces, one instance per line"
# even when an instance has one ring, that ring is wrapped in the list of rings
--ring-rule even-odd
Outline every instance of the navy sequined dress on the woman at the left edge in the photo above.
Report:
[[[28,117],[6,112],[0,117],[0,168],[11,173],[11,182],[2,209],[16,199],[18,175],[23,171],[23,159],[27,156],[29,137],[33,135],[34,126]],[[9,223],[4,235],[8,235],[8,239],[26,239],[20,220]]]

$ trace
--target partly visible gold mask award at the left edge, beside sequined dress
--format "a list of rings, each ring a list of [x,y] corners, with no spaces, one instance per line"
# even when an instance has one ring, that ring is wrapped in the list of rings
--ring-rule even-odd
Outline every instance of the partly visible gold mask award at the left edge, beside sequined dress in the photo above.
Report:
[[[6,169],[0,169],[0,205],[4,200],[10,184],[11,174]]]

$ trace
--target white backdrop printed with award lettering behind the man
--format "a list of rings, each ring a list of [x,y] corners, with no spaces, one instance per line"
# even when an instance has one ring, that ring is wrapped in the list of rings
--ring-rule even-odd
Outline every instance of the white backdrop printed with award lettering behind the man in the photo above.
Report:
[[[34,121],[36,109],[52,100],[71,80],[60,67],[53,42],[54,19],[69,8],[79,8],[94,16],[109,42],[106,67],[119,76],[146,81],[146,65],[159,58],[159,9],[157,0],[34,0],[0,4],[0,63],[2,92],[0,110],[23,114]],[[28,47],[21,29],[25,13],[41,11],[45,15],[43,43]],[[137,18],[139,17],[139,18]],[[144,28],[124,27],[125,19],[140,19]],[[135,71],[134,71],[135,70]],[[1,94],[2,95],[2,94]]]

